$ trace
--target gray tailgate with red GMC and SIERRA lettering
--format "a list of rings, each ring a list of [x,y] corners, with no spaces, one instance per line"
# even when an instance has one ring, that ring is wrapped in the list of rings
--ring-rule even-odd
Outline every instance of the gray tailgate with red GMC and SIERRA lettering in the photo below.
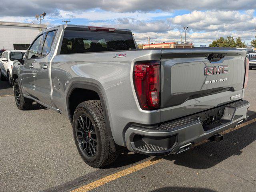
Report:
[[[241,99],[245,56],[239,49],[162,50],[160,121]]]

